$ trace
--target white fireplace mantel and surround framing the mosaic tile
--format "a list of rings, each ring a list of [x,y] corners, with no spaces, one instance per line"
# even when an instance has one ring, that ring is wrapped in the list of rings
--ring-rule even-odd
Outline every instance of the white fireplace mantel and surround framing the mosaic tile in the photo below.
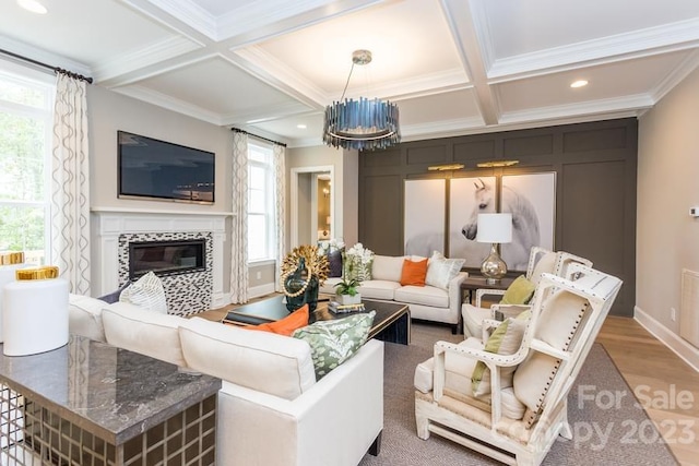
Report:
[[[92,267],[93,289],[97,296],[119,287],[119,235],[145,232],[212,232],[213,235],[213,296],[212,307],[228,303],[223,289],[223,258],[226,241],[227,212],[171,212],[156,210],[125,210],[93,207],[92,256],[97,266]]]

